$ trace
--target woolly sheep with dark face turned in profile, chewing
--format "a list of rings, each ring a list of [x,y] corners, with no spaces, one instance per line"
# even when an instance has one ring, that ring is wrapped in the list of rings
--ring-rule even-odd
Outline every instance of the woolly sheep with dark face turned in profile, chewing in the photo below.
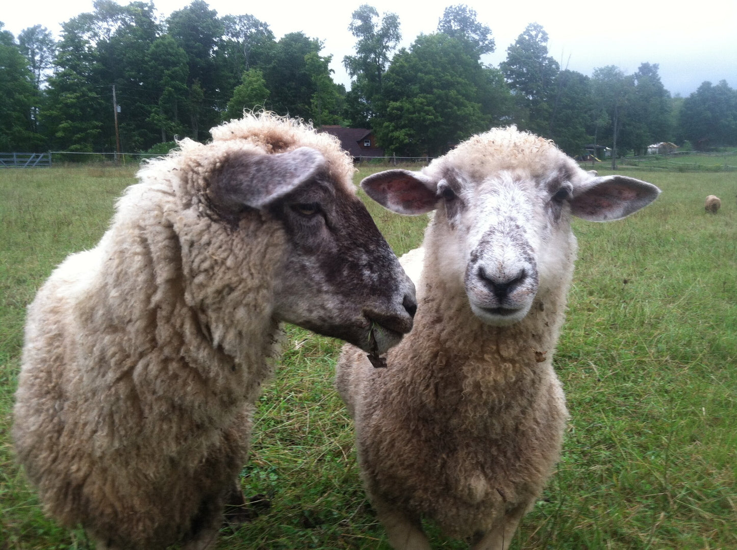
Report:
[[[212,546],[291,322],[380,354],[414,287],[304,122],[248,114],[140,169],[29,306],[13,437],[50,515],[99,549]]]

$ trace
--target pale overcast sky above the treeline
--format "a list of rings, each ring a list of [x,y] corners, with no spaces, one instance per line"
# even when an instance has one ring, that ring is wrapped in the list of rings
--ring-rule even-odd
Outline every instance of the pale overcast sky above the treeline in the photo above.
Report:
[[[116,0],[128,4],[127,0]],[[189,5],[191,0],[154,0],[162,16]],[[672,95],[688,96],[708,80],[727,80],[737,88],[737,1],[703,0],[690,3],[660,0],[608,1],[481,1],[481,0],[209,0],[212,10],[250,13],[269,25],[276,36],[304,32],[324,41],[321,54],[332,54],[335,82],[350,87],[343,56],[354,53],[355,38],[348,30],[351,13],[370,4],[379,13],[399,15],[402,46],[410,46],[421,32],[435,32],[445,7],[467,4],[478,21],[492,29],[496,52],[485,63],[498,66],[506,49],[533,22],[548,32],[548,51],[561,68],[591,76],[597,67],[615,65],[626,74],[640,63],[658,63],[660,78]],[[21,30],[41,24],[57,34],[60,23],[94,10],[93,0],[5,0],[0,10],[4,29],[17,38]]]

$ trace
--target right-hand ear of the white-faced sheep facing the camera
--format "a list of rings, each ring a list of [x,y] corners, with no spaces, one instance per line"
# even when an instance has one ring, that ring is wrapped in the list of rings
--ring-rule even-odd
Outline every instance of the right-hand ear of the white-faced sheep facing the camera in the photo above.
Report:
[[[634,177],[594,177],[573,189],[570,209],[573,216],[590,222],[609,222],[646,207],[659,194],[652,183]]]

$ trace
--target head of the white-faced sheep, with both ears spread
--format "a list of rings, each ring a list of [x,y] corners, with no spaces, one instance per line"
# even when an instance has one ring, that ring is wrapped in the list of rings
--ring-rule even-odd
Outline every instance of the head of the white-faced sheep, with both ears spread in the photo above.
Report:
[[[543,290],[565,292],[576,253],[570,215],[620,219],[660,193],[631,177],[585,172],[551,142],[514,129],[475,136],[421,172],[389,170],[361,185],[402,214],[436,209],[426,261],[493,325],[522,320]],[[387,192],[395,188],[402,192]]]

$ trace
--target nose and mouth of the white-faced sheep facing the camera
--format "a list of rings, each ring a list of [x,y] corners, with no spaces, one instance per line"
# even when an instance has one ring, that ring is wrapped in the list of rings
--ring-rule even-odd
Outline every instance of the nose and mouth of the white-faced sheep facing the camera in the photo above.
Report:
[[[538,289],[537,269],[531,262],[471,262],[465,283],[477,317],[492,325],[511,325],[530,311]]]

